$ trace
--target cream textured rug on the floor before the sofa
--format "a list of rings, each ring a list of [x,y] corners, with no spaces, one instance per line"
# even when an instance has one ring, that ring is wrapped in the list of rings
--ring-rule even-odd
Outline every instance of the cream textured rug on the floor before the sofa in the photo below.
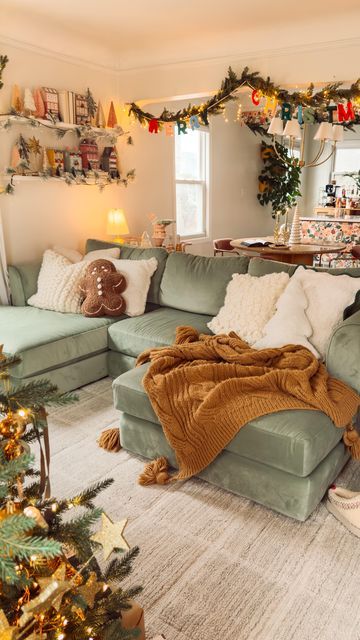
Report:
[[[51,411],[53,494],[115,479],[98,502],[129,518],[126,538],[140,546],[130,581],[144,587],[148,638],[359,640],[360,539],[324,504],[299,523],[197,479],[140,487],[143,460],[96,444],[118,423],[111,381],[79,396]],[[360,463],[338,483],[360,490]]]

